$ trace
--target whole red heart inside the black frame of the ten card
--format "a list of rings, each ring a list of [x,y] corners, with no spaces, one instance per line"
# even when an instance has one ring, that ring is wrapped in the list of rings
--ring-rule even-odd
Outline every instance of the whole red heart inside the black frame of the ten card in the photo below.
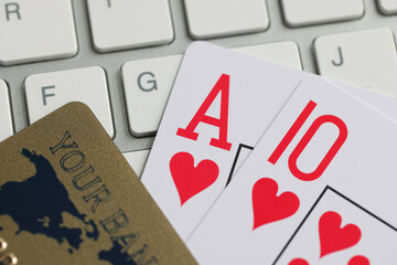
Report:
[[[325,212],[320,218],[319,234],[321,254],[323,257],[330,253],[354,246],[361,239],[361,230],[355,224],[341,227],[342,218],[336,212]]]

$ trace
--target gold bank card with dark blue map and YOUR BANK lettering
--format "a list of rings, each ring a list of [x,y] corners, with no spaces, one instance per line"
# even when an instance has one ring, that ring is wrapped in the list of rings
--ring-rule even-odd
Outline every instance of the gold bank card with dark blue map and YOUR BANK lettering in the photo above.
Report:
[[[18,264],[196,264],[81,103],[0,144],[0,237]]]

